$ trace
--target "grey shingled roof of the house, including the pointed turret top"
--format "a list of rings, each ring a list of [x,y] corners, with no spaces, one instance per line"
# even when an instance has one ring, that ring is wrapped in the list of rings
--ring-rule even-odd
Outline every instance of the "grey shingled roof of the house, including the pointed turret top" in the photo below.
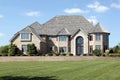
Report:
[[[40,35],[71,35],[72,37],[78,32],[83,31],[85,34],[89,33],[109,33],[99,23],[94,27],[83,16],[56,16],[44,24],[34,22],[30,26],[17,32],[13,38],[19,33],[34,33],[40,40]]]

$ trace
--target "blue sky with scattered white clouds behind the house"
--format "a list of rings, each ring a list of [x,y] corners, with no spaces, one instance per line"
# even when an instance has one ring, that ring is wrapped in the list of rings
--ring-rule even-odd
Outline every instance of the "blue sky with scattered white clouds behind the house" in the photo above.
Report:
[[[120,0],[0,0],[0,46],[34,22],[54,16],[80,15],[110,32],[109,46],[120,43]]]

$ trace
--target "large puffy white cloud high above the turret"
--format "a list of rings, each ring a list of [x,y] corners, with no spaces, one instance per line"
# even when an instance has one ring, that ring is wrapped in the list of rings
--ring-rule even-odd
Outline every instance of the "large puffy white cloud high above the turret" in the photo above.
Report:
[[[101,5],[99,2],[94,2],[93,4],[88,4],[88,8],[93,9],[96,12],[106,12],[109,8],[107,6]]]

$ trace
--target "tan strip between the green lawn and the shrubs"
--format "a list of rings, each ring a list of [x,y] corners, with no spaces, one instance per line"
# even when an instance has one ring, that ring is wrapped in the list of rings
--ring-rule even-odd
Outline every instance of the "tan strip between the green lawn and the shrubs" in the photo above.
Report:
[[[79,61],[79,60],[120,60],[119,57],[97,56],[1,56],[0,62],[10,61]]]

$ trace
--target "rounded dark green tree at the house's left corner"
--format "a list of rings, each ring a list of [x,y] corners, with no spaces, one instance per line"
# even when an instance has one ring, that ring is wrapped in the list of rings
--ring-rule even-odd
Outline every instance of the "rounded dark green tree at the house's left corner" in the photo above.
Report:
[[[10,44],[8,52],[9,52],[8,54],[9,56],[14,56],[19,54],[19,49],[15,44]]]

